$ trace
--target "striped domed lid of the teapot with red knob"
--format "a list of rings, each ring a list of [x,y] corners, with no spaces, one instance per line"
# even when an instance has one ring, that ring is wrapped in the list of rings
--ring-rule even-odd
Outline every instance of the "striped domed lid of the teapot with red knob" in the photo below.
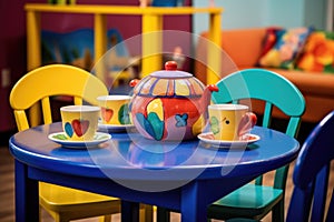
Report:
[[[202,97],[205,87],[193,74],[177,70],[175,61],[165,63],[165,70],[147,75],[134,89],[144,97]]]

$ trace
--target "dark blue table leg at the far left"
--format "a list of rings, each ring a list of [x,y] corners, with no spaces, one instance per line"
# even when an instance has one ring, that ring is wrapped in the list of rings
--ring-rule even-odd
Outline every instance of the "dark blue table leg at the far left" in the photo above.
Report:
[[[16,221],[39,221],[38,181],[28,178],[28,167],[16,160]]]

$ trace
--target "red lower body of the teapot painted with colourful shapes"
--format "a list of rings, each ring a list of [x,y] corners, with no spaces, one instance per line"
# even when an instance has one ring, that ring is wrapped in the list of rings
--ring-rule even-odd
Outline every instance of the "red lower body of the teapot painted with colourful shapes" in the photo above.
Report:
[[[187,98],[153,98],[134,101],[131,109],[137,110],[135,124],[147,138],[155,140],[183,140],[194,138],[196,128],[204,120],[198,108]],[[181,103],[183,105],[177,105]],[[200,127],[199,127],[200,129]],[[195,132],[194,132],[195,131]]]

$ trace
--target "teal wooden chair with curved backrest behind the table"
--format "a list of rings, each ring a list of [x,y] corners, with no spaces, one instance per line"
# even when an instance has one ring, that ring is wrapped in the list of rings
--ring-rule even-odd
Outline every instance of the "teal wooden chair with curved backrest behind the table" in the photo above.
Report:
[[[265,69],[246,69],[217,82],[214,103],[264,102],[262,125],[271,128],[272,111],[276,107],[288,119],[285,133],[296,137],[305,100],[301,91],[287,79]],[[248,104],[249,105],[249,104]],[[284,196],[288,165],[275,171],[273,186],[263,184],[263,175],[208,206],[208,218],[227,220],[247,218],[259,220],[272,211],[272,221],[284,221]],[[222,184],[224,185],[224,184]]]

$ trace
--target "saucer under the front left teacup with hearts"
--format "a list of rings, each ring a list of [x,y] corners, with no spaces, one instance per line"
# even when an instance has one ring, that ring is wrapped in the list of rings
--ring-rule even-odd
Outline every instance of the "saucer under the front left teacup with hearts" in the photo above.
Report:
[[[48,137],[53,142],[61,144],[63,148],[85,149],[97,147],[98,144],[108,141],[111,135],[109,133],[97,132],[91,141],[69,141],[65,132],[51,133]]]

